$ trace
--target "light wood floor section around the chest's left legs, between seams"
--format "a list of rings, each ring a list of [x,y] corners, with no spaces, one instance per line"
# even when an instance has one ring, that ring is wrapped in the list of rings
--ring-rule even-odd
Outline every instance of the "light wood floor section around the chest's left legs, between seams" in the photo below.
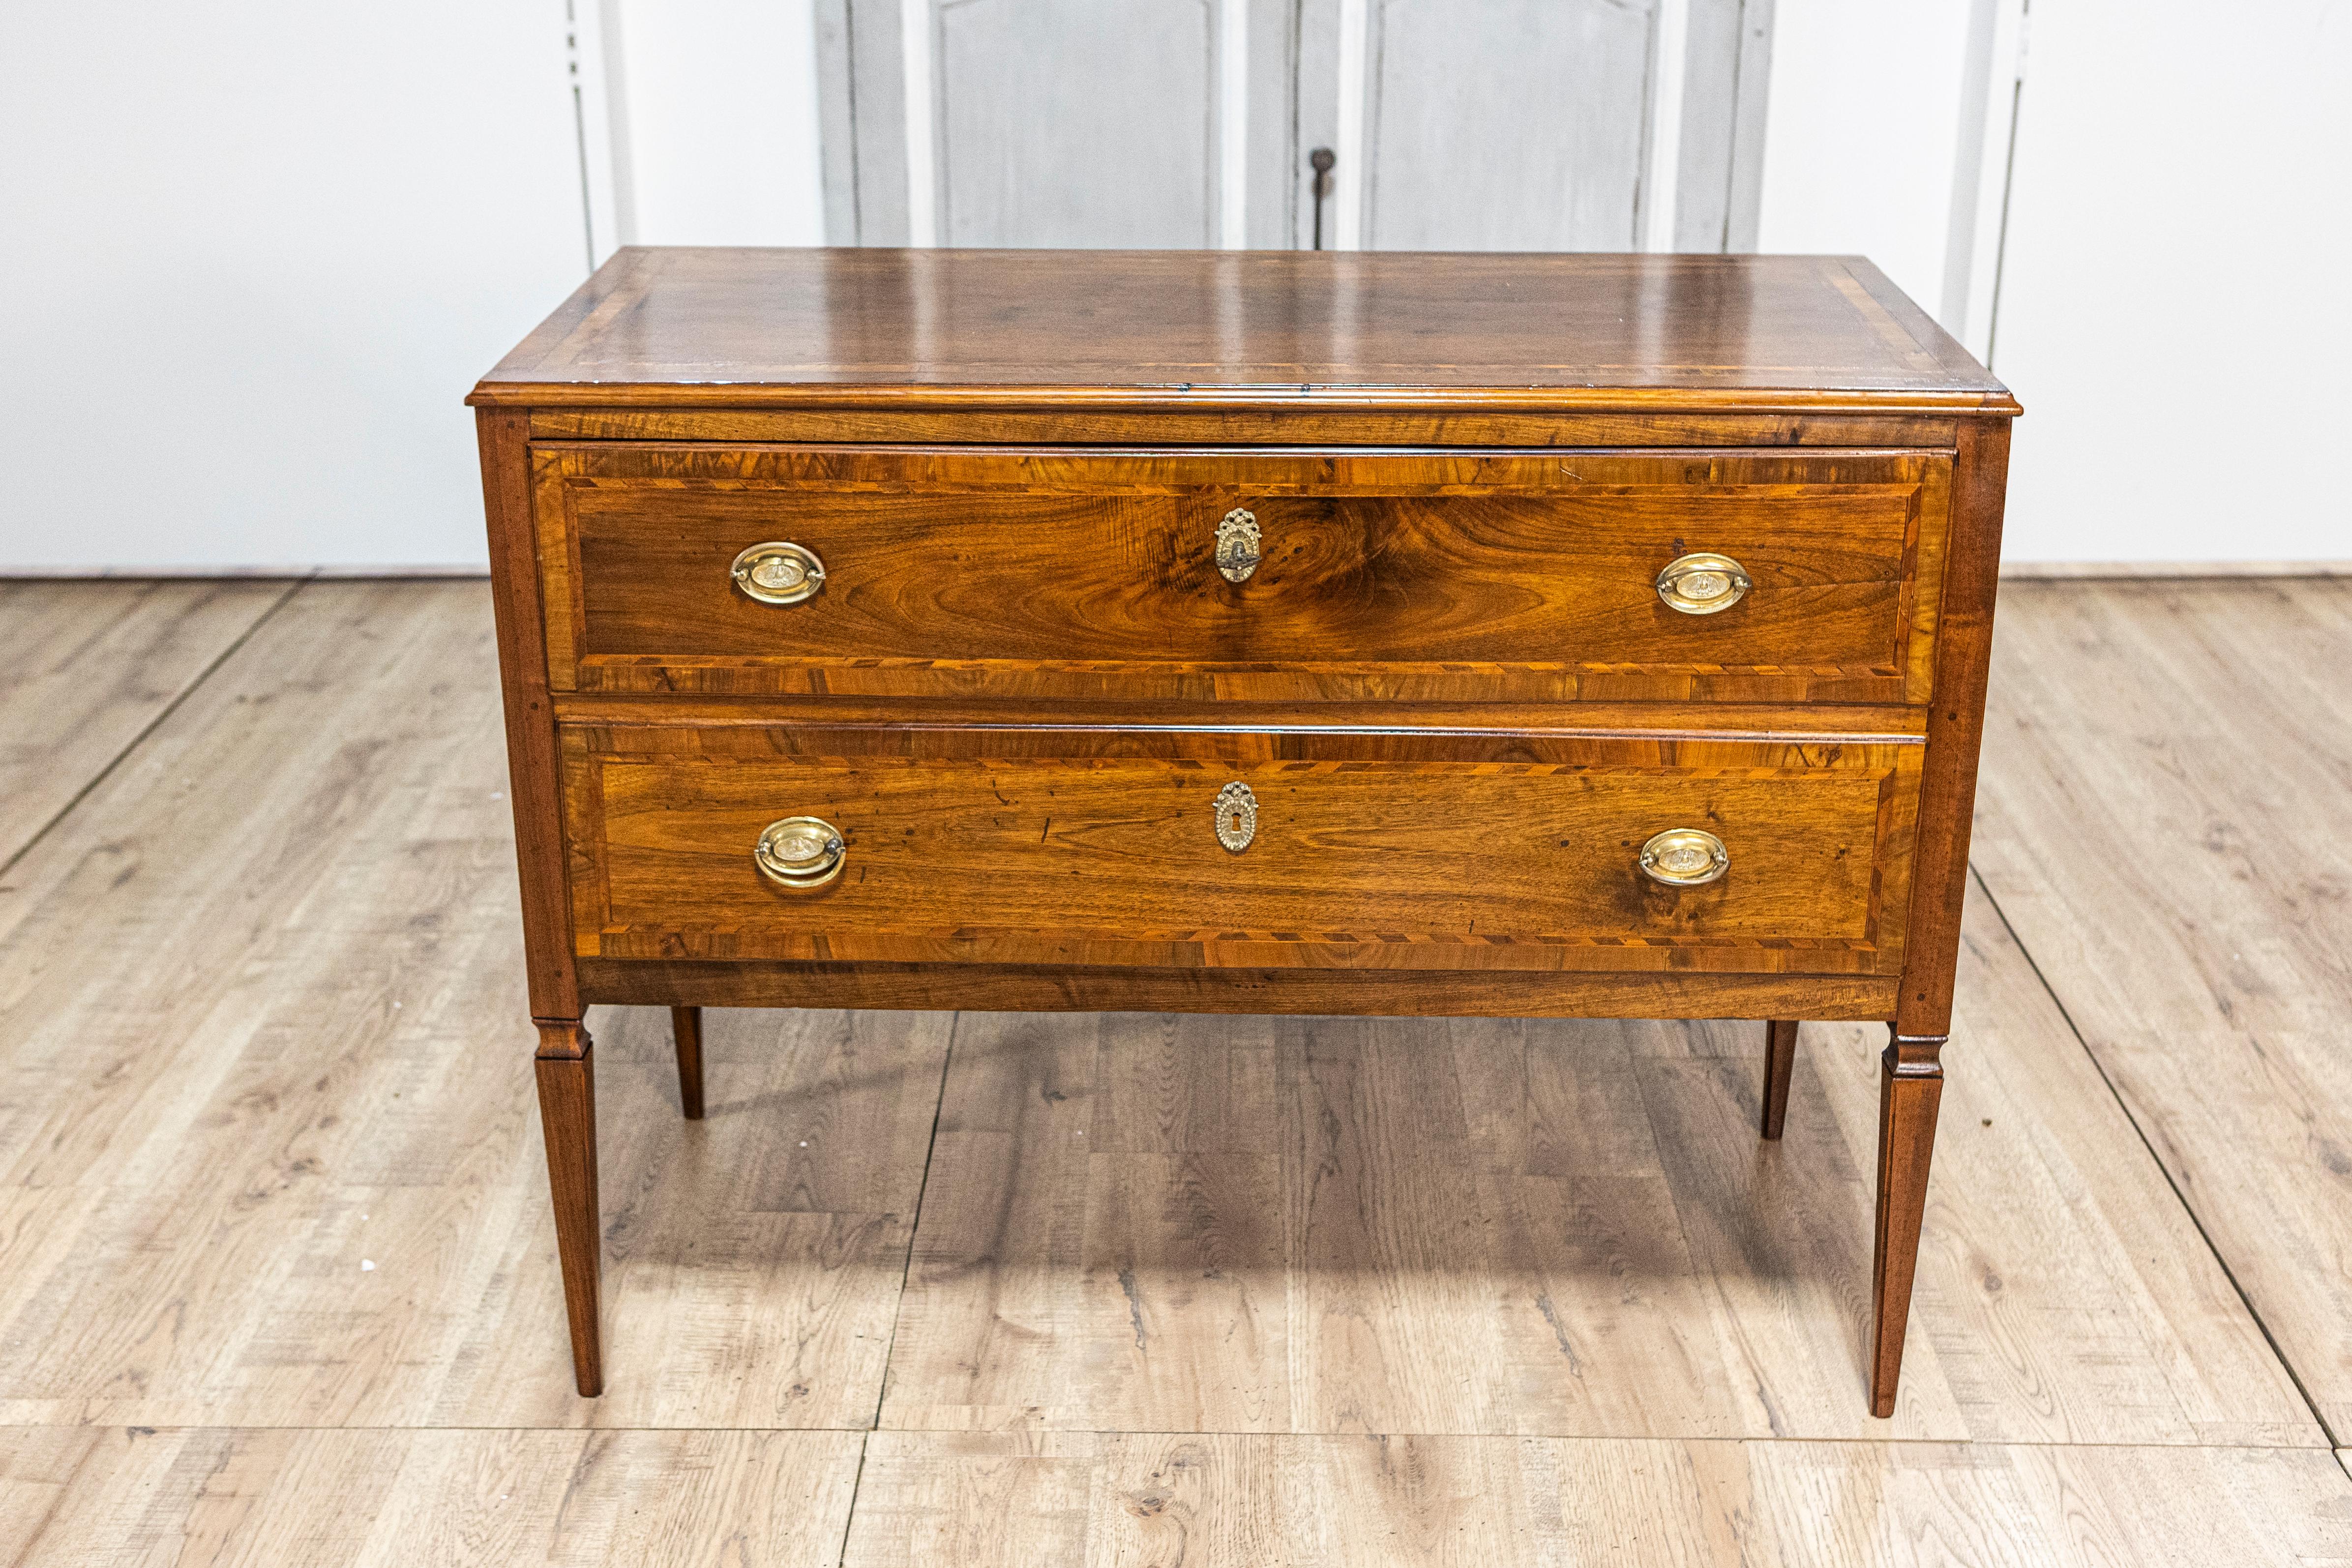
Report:
[[[572,1392],[487,585],[303,588],[0,886],[0,1420],[866,1427],[946,1013],[595,1030]],[[807,1145],[807,1147],[802,1147]]]

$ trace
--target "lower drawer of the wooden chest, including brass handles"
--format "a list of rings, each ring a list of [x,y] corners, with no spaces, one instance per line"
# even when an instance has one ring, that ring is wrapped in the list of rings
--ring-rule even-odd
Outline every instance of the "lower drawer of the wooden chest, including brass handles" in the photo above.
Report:
[[[564,736],[576,952],[1896,973],[1919,755],[581,726]]]

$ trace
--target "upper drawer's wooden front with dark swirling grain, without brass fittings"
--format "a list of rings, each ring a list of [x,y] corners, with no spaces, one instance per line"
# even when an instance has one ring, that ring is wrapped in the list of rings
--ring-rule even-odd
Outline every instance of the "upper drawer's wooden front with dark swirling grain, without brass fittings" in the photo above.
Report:
[[[557,691],[1247,701],[1919,703],[1950,482],[1933,451],[550,444],[534,470]],[[743,592],[760,543],[821,590]],[[1745,595],[1668,604],[1686,555]]]

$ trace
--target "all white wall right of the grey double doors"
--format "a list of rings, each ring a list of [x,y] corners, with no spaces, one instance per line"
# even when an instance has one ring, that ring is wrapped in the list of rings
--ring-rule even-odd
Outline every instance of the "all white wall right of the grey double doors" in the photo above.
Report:
[[[2004,559],[2352,559],[2352,5],[2020,12],[1778,0],[1759,249],[1875,259],[2018,393]]]

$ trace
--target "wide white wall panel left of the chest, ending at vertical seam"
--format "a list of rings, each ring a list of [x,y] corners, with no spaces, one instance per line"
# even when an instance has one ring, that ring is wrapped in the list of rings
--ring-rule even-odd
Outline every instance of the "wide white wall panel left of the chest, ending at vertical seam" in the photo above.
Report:
[[[586,268],[564,0],[0,7],[0,569],[482,562]]]

